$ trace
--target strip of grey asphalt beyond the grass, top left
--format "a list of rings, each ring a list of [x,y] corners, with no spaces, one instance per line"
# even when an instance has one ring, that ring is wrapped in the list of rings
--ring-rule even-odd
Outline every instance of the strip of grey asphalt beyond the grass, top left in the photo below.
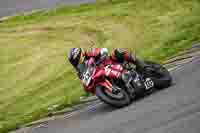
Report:
[[[0,0],[0,17],[37,9],[49,9],[63,4],[91,3],[96,0]]]

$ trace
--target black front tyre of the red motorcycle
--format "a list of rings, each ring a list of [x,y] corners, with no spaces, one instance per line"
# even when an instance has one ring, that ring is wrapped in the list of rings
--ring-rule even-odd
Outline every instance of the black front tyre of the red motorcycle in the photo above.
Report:
[[[96,87],[97,97],[106,104],[109,104],[113,107],[121,108],[131,103],[130,96],[123,89],[120,89],[119,92],[121,96],[114,96],[115,94],[109,93],[110,92],[108,92],[103,86]]]

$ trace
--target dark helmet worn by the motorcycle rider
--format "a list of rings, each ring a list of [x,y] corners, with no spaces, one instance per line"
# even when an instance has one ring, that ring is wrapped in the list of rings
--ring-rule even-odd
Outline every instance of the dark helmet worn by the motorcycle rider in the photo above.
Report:
[[[81,48],[71,48],[68,53],[68,60],[69,62],[76,67],[79,64],[79,61],[81,59]]]

